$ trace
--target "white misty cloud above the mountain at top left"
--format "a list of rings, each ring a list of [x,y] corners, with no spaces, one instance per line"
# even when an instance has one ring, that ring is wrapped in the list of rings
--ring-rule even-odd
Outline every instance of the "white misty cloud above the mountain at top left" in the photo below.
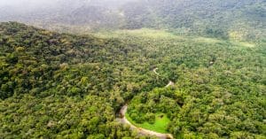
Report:
[[[117,8],[129,1],[137,0],[0,0],[0,17],[22,14],[46,14],[46,12],[71,12],[84,5]]]

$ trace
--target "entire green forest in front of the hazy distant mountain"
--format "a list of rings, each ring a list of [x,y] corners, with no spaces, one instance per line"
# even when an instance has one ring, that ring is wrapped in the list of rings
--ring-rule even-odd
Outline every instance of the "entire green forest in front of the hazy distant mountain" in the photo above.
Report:
[[[151,138],[115,120],[126,103],[175,138],[265,138],[265,42],[98,36],[0,24],[0,138]]]

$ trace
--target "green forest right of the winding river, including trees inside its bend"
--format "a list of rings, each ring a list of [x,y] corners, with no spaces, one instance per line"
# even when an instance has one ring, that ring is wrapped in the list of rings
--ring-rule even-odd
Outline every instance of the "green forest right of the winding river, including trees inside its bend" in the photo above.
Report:
[[[158,67],[160,75],[150,75],[166,79],[129,102],[132,120],[153,123],[154,113],[167,113],[176,138],[265,137],[265,43],[248,48],[209,38],[132,37]],[[175,87],[164,89],[168,81]]]

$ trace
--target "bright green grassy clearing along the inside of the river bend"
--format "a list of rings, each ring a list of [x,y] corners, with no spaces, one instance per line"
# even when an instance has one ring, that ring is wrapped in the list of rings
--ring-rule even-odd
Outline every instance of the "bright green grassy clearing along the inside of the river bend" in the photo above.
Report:
[[[161,115],[163,115],[162,118],[160,117]],[[162,133],[162,134],[168,133],[167,127],[168,127],[168,123],[170,122],[170,120],[168,119],[167,115],[164,113],[156,113],[154,124],[149,124],[148,122],[144,122],[142,124],[137,124],[134,120],[132,120],[129,117],[128,113],[126,113],[126,118],[127,118],[127,120],[130,121],[130,123],[132,123],[136,127],[142,127],[142,128],[148,129],[148,130]]]

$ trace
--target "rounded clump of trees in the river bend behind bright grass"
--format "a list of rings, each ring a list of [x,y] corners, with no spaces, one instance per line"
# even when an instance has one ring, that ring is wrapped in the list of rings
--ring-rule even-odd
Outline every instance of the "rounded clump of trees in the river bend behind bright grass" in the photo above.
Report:
[[[129,117],[137,123],[148,121],[153,124],[156,113],[166,113],[174,119],[184,104],[184,93],[174,88],[158,88],[143,92],[134,97],[129,104]]]

